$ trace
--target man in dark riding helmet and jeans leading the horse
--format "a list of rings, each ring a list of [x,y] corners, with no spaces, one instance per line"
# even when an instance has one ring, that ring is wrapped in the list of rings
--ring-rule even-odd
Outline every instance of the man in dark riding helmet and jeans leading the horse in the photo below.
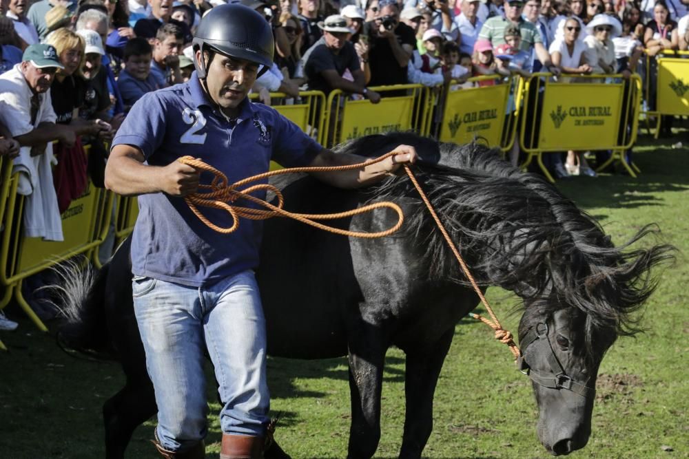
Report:
[[[198,169],[178,158],[200,158],[230,182],[267,171],[271,158],[287,166],[363,159],[323,149],[274,109],[248,100],[273,50],[270,25],[254,10],[238,4],[210,10],[194,37],[192,78],[136,103],[107,162],[107,188],[139,195],[131,253],[134,310],[158,405],[156,447],[165,458],[205,457],[205,350],[223,404],[220,458],[263,457],[269,409],[265,323],[253,271],[261,222],[241,220],[229,235],[200,222],[183,197],[209,177],[202,180]],[[343,187],[376,182],[416,158],[407,146],[395,153],[356,171],[317,176]],[[265,191],[254,195],[265,198]],[[227,213],[207,215],[219,226],[232,224]]]

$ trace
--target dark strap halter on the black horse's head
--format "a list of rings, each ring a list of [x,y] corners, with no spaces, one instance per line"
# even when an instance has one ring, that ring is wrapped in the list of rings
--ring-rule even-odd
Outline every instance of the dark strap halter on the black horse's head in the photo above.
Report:
[[[548,350],[550,350],[548,353],[548,363],[551,366],[550,373],[542,373],[533,370],[528,363],[526,363],[526,359],[524,359],[524,353],[528,345],[538,339],[545,339],[548,342]],[[579,383],[567,376],[567,372],[564,367],[562,367],[562,364],[559,363],[559,360],[557,360],[557,356],[555,356],[555,351],[553,350],[553,344],[550,338],[548,338],[547,323],[539,323],[535,327],[530,328],[528,332],[526,332],[524,339],[520,342],[520,345],[522,353],[517,358],[517,367],[520,372],[528,375],[531,381],[543,387],[550,387],[551,389],[567,389],[584,397],[590,397],[595,394],[595,387],[588,387],[586,384]]]

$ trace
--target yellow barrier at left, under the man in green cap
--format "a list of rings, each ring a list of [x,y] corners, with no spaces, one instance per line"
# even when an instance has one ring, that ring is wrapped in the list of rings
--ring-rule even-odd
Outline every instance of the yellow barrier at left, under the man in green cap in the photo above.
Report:
[[[88,150],[88,147],[85,149]],[[9,180],[6,212],[2,220],[5,230],[0,244],[0,283],[7,290],[1,301],[5,301],[2,303],[4,306],[14,292],[14,298],[24,312],[40,330],[47,331],[41,319],[23,298],[21,283],[26,277],[75,255],[84,254],[88,257],[107,235],[112,193],[96,188],[89,180],[84,193],[62,213],[65,240],[52,242],[23,235],[24,197],[17,194],[18,184],[19,174],[15,173]],[[3,188],[4,186],[3,183]],[[101,199],[103,193],[105,195]]]

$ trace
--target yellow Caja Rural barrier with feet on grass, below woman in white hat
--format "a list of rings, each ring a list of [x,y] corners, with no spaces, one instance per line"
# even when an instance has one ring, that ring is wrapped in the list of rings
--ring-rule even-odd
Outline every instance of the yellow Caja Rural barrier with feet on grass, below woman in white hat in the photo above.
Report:
[[[523,122],[520,129],[520,146],[528,154],[522,168],[536,160],[546,178],[554,182],[542,153],[611,150],[610,160],[598,169],[619,161],[636,177],[639,169],[628,164],[624,151],[637,138],[641,78],[635,74],[626,83],[620,75],[577,75],[591,82],[553,83],[550,76],[533,74],[526,81],[524,93],[534,97],[525,98],[524,112],[531,110],[537,116],[531,123]],[[627,127],[631,127],[630,132]]]

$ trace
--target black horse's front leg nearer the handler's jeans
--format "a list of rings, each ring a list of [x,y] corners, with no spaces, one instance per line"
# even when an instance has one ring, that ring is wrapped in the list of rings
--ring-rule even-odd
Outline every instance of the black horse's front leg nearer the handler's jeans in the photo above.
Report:
[[[380,440],[380,392],[387,340],[380,328],[363,319],[348,334],[351,427],[347,458],[369,459]]]

